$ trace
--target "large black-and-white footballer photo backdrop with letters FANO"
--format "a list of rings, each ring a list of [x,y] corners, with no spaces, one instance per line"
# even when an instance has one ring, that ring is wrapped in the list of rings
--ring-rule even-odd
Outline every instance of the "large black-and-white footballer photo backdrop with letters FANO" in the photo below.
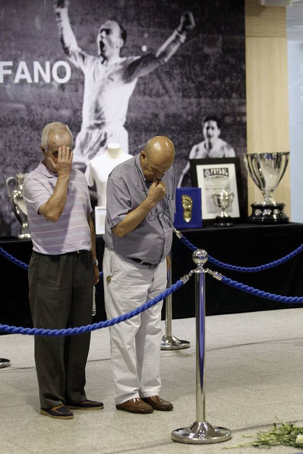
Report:
[[[239,156],[246,188],[243,0],[0,0],[0,34],[2,236],[20,233],[6,180],[37,166],[49,122],[83,172],[109,142],[166,135],[179,186],[189,157]]]

